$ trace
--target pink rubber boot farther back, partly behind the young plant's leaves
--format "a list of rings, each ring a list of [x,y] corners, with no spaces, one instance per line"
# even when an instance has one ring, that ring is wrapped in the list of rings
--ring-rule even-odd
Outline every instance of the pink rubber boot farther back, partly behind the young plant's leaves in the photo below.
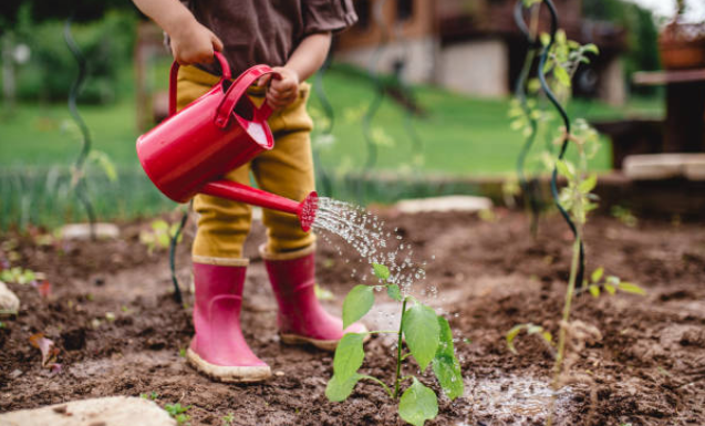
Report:
[[[269,281],[279,303],[279,333],[290,344],[309,343],[334,351],[345,333],[364,333],[367,329],[354,323],[343,330],[343,321],[319,303],[314,289],[315,245],[284,253],[269,253],[260,247]]]

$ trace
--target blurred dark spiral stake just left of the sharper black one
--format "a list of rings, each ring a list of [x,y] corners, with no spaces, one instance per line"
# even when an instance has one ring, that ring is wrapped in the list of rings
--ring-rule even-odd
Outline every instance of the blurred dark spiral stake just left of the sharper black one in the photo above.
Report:
[[[519,27],[521,33],[526,37],[527,42],[529,43],[529,50],[523,60],[523,66],[521,67],[521,73],[519,74],[519,79],[517,80],[517,85],[515,87],[515,96],[519,100],[519,104],[523,110],[523,113],[529,121],[529,126],[531,128],[531,133],[526,137],[523,146],[519,152],[519,157],[517,158],[517,176],[519,177],[519,185],[521,186],[521,191],[528,201],[529,209],[531,211],[531,235],[536,236],[539,226],[539,215],[540,215],[540,200],[538,195],[538,188],[536,186],[536,180],[532,179],[531,183],[527,179],[525,166],[527,155],[536,141],[536,135],[538,133],[538,123],[535,117],[531,116],[531,110],[527,104],[527,91],[526,84],[529,77],[529,73],[531,72],[531,66],[533,65],[533,61],[536,60],[537,52],[541,48],[541,43],[529,30],[529,27],[523,21],[523,0],[518,0],[514,8],[514,19]]]

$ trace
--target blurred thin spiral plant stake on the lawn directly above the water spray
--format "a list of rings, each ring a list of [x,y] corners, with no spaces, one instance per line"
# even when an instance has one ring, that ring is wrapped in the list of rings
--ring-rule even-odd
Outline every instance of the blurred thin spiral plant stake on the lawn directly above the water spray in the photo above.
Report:
[[[386,44],[390,40],[387,24],[384,21],[384,17],[382,13],[385,3],[386,0],[380,0],[374,3],[374,21],[377,25],[380,25],[382,39],[380,40],[380,44],[372,55],[372,60],[370,61],[370,69],[367,71],[376,91],[374,97],[372,98],[372,102],[370,103],[370,106],[367,106],[365,115],[362,117],[362,134],[367,145],[367,158],[363,166],[362,176],[357,186],[357,204],[360,205],[363,204],[363,193],[365,180],[367,179],[367,174],[377,162],[377,147],[371,134],[371,125],[372,118],[377,113],[377,110],[382,105],[382,100],[384,98],[384,86],[380,81],[380,75],[377,74],[376,69],[377,64],[380,63],[380,59],[382,58],[382,53],[384,53]]]

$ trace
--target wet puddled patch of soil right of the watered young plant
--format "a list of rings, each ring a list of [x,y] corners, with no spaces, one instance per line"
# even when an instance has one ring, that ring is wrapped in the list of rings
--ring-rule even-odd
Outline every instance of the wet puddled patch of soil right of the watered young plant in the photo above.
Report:
[[[487,426],[525,425],[546,420],[553,389],[549,383],[532,377],[504,376],[497,378],[466,378],[465,398],[471,407],[470,419],[481,420]],[[554,420],[561,418],[572,398],[572,389],[566,386],[558,391]],[[475,425],[475,422],[456,426]]]

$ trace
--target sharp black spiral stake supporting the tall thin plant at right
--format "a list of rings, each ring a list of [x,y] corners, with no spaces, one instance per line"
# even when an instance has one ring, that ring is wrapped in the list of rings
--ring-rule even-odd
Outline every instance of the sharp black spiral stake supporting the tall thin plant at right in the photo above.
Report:
[[[541,87],[543,89],[546,96],[549,98],[553,107],[556,107],[556,110],[558,111],[558,114],[563,121],[564,132],[561,139],[560,150],[558,153],[558,160],[562,160],[563,157],[566,156],[568,142],[570,141],[570,118],[568,117],[568,113],[566,112],[563,106],[560,104],[560,102],[558,102],[558,100],[556,98],[556,95],[553,94],[548,83],[546,82],[546,74],[543,73],[543,67],[546,66],[546,61],[548,60],[549,52],[551,50],[551,46],[553,45],[553,42],[556,41],[556,32],[558,31],[558,14],[556,12],[556,7],[553,6],[553,2],[551,0],[542,0],[542,2],[543,4],[548,7],[548,10],[550,12],[551,27],[550,27],[549,42],[546,46],[543,46],[543,51],[541,52],[541,55],[539,56],[539,82],[541,83]],[[556,204],[558,211],[560,211],[561,216],[563,217],[563,219],[566,219],[566,222],[570,227],[570,230],[573,232],[573,237],[576,239],[580,239],[581,237],[580,235],[578,235],[578,228],[576,227],[576,224],[573,224],[573,221],[570,219],[568,211],[566,211],[566,209],[560,205],[559,194],[558,194],[558,167],[557,166],[553,166],[553,172],[551,173],[551,195],[553,196],[553,202]],[[579,241],[580,241],[580,259],[579,259],[578,274],[576,278],[577,287],[582,285],[582,279],[583,279],[584,269],[585,269],[584,247],[582,243],[582,239],[580,239]]]

